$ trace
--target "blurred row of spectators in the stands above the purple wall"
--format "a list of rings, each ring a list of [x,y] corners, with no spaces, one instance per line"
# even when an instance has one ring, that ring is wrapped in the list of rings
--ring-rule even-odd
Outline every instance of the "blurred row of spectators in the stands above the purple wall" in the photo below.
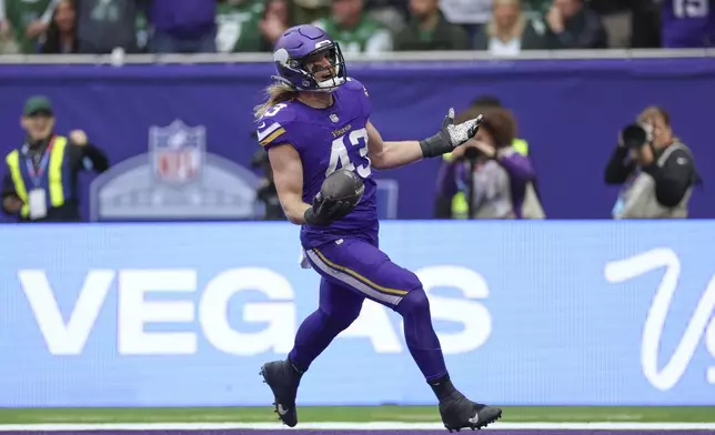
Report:
[[[0,53],[268,52],[314,22],[346,53],[699,48],[708,0],[0,0]],[[686,20],[684,26],[678,18]],[[692,24],[689,24],[692,23]]]

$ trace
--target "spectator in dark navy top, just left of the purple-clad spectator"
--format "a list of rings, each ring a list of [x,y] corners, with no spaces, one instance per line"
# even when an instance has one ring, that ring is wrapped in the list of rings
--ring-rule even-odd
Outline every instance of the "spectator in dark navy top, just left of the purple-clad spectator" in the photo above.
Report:
[[[107,54],[117,48],[137,52],[139,1],[74,0],[79,52]]]

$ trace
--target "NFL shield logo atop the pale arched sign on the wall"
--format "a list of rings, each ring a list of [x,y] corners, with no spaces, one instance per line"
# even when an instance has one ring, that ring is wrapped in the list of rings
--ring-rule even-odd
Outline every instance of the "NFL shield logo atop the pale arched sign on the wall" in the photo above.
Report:
[[[177,120],[149,130],[149,150],[155,175],[169,184],[185,184],[201,174],[205,154],[205,128]]]

